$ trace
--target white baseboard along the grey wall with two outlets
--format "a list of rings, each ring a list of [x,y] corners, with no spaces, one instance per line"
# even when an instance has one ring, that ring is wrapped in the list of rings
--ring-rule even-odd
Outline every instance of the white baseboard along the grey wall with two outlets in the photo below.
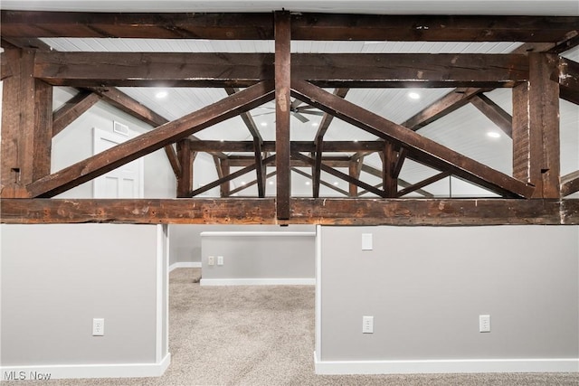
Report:
[[[409,374],[450,372],[579,372],[579,358],[566,359],[458,359],[423,361],[318,361],[316,373]]]

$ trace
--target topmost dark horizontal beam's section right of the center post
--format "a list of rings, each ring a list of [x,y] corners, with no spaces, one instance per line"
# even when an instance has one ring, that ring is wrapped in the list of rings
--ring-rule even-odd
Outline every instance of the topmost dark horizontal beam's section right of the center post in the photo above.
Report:
[[[561,42],[577,17],[295,14],[292,36],[315,41]]]

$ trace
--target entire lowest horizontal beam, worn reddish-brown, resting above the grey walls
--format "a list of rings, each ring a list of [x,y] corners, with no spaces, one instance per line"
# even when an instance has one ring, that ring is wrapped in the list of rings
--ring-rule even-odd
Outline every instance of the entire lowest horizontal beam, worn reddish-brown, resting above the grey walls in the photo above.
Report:
[[[5,199],[2,223],[322,225],[579,225],[579,200],[294,198],[278,221],[273,198]]]

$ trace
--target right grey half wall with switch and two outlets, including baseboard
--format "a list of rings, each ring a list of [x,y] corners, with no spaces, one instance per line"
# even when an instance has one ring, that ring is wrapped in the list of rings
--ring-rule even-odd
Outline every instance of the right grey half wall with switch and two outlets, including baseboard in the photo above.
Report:
[[[579,227],[321,227],[320,241],[318,372],[579,371]]]

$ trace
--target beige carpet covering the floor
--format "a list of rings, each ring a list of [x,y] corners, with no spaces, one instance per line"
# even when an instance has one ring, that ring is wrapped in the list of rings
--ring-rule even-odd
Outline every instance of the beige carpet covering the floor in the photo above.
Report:
[[[313,287],[200,287],[198,279],[195,268],[171,273],[173,360],[163,377],[42,384],[579,386],[577,373],[319,376],[313,365]]]

